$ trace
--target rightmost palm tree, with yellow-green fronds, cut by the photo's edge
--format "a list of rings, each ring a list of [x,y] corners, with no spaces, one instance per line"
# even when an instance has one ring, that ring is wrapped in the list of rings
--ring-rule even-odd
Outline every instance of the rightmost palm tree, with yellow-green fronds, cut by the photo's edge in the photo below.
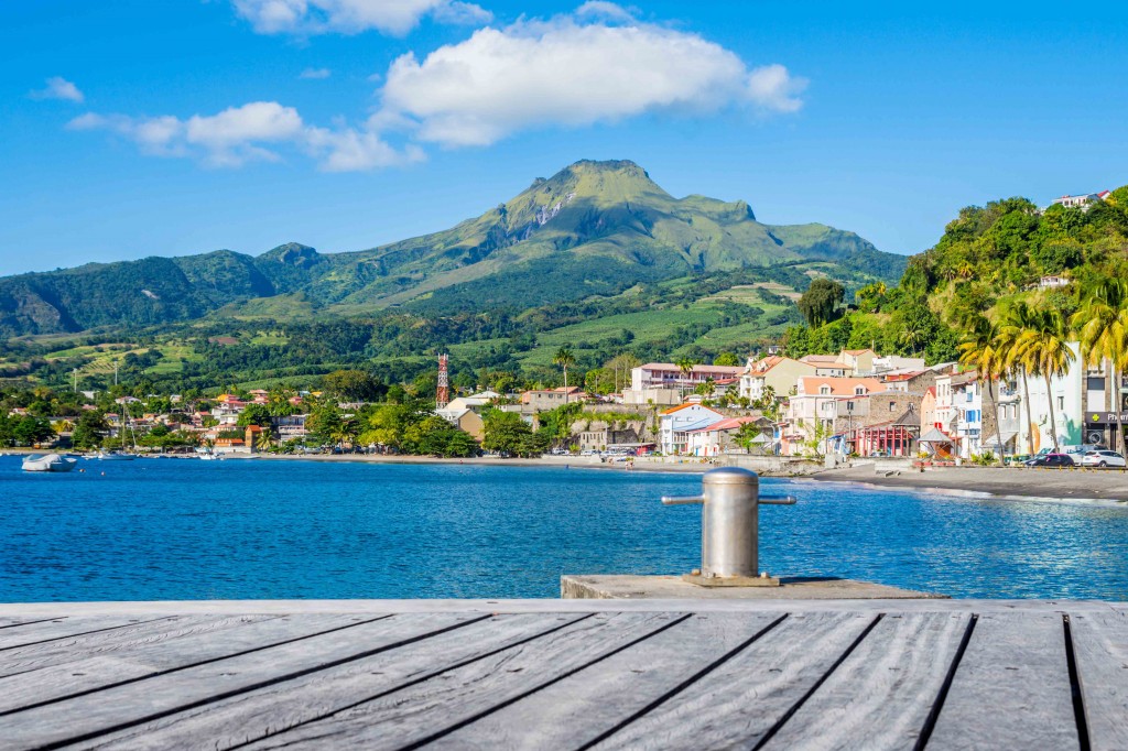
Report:
[[[1112,382],[1112,408],[1117,415],[1117,435],[1110,449],[1117,448],[1117,438],[1125,444],[1123,424],[1120,419],[1120,379],[1128,369],[1128,283],[1120,279],[1104,279],[1086,295],[1081,310],[1074,313],[1073,326],[1081,342],[1081,355],[1087,365],[1104,362],[1105,378]]]

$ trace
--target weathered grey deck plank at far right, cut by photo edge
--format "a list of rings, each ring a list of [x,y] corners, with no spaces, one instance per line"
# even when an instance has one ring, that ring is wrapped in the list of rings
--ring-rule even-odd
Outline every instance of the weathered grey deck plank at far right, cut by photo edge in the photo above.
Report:
[[[1070,615],[1069,621],[1090,746],[1128,749],[1128,613]]]

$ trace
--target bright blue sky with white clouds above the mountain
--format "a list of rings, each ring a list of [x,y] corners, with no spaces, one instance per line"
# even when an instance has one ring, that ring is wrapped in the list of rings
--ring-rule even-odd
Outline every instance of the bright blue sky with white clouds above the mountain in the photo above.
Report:
[[[358,250],[585,158],[897,253],[1128,184],[1128,6],[942,5],[2,3],[0,274]]]

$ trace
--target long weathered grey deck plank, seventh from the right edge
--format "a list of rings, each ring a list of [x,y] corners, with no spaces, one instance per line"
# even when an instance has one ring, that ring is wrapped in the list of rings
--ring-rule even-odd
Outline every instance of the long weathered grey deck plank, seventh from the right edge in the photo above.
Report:
[[[497,616],[403,650],[274,683],[199,709],[100,737],[99,750],[226,749],[326,717],[407,683],[478,660],[521,642],[573,628],[584,613]]]

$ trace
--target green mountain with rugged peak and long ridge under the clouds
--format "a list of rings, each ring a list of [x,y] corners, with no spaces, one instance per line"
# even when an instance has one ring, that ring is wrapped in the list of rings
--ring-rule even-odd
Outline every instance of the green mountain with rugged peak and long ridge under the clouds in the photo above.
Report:
[[[580,161],[451,229],[356,253],[288,244],[0,279],[0,335],[190,321],[224,313],[421,316],[525,310],[641,283],[826,262],[893,282],[906,258],[822,224],[756,221],[744,202],[675,198],[631,161]]]

